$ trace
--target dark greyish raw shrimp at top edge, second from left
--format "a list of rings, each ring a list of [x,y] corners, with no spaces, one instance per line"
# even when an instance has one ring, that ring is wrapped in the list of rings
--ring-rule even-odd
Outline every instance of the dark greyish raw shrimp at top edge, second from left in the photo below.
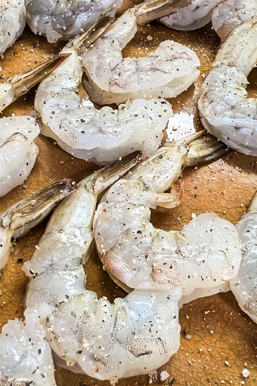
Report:
[[[27,23],[50,43],[69,40],[91,27],[101,15],[114,16],[123,0],[25,0]]]

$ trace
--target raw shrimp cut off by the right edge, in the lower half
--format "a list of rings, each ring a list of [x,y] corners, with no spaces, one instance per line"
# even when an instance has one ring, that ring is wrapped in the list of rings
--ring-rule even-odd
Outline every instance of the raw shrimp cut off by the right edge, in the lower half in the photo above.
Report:
[[[237,276],[230,280],[230,289],[242,310],[257,323],[257,193],[236,228],[242,261]]]

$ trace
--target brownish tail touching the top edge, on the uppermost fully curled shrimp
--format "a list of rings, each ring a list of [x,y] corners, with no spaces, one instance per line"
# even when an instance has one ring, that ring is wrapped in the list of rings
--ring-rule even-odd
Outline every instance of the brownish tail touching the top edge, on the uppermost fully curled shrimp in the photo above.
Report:
[[[192,4],[192,0],[150,0],[140,4],[135,12],[138,25],[148,23],[161,17],[175,14],[181,8]]]

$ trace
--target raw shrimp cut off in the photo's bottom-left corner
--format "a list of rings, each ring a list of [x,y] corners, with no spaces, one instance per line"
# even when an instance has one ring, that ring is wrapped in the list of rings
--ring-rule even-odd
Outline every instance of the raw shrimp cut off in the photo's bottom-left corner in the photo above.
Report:
[[[0,334],[1,386],[56,386],[51,349],[37,312],[9,320]]]

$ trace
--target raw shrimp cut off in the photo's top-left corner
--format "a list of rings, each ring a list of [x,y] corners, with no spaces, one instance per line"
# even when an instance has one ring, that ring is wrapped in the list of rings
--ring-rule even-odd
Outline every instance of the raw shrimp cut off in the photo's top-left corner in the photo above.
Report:
[[[24,0],[0,2],[0,55],[22,34],[26,23]]]

